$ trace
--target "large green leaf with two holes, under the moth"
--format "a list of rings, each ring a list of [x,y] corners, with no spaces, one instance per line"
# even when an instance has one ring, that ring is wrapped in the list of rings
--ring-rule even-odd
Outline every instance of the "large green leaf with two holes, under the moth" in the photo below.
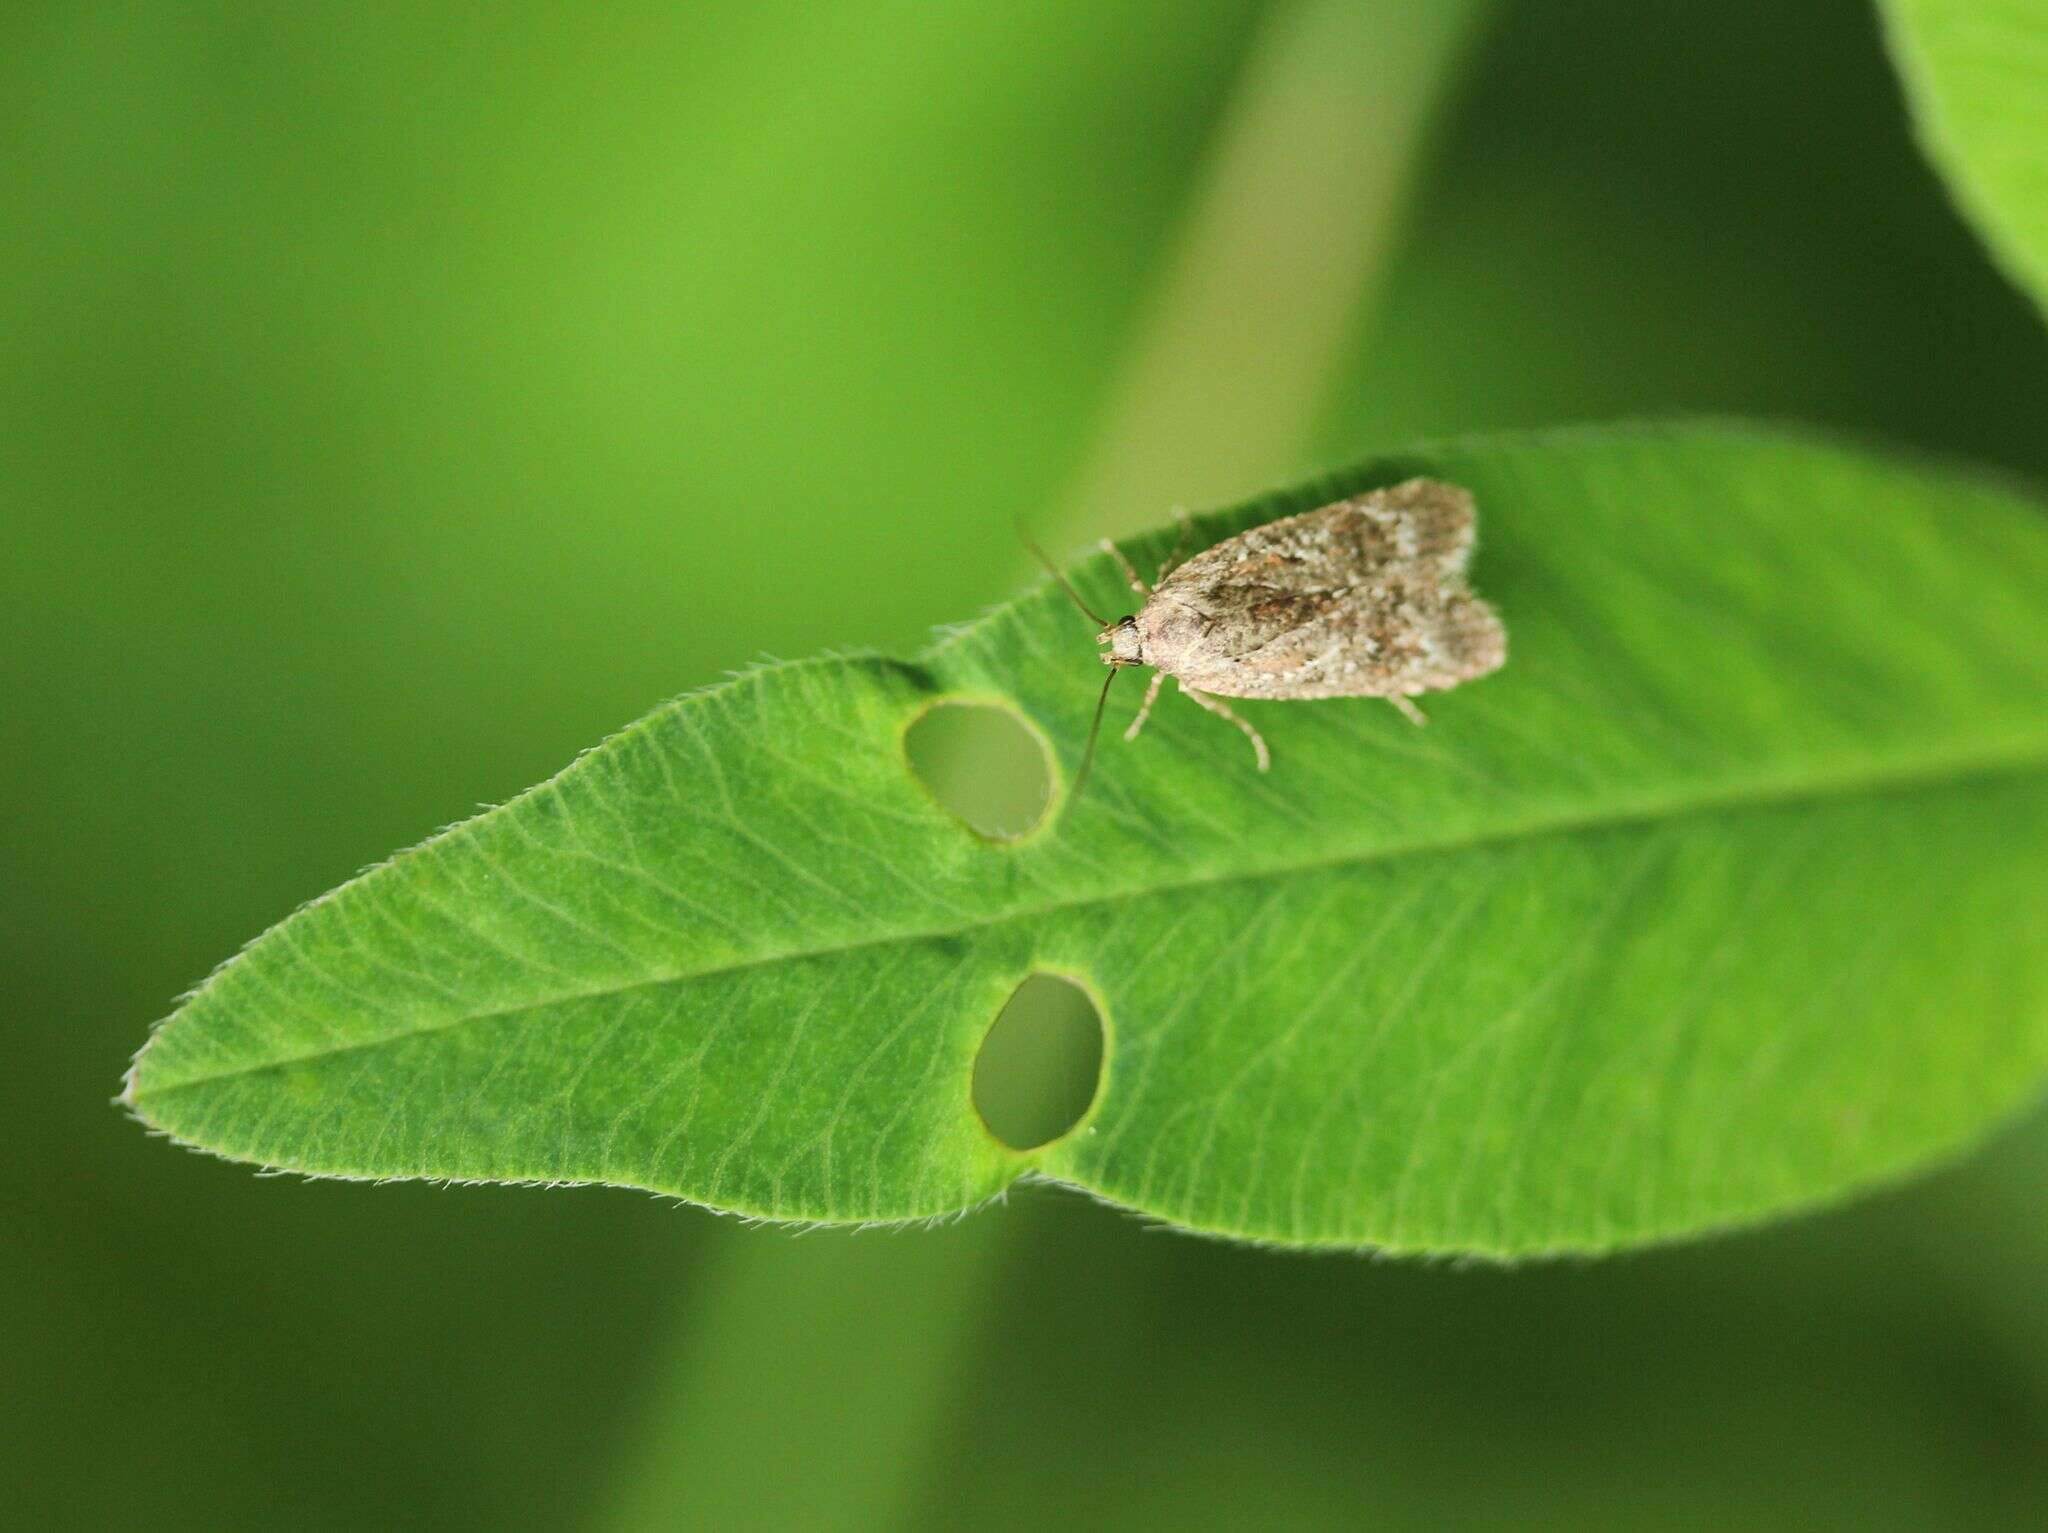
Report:
[[[918,661],[680,698],[315,901],[184,1003],[127,1101],[324,1175],[907,1220],[1036,1173],[1200,1230],[1499,1255],[1755,1220],[2021,1105],[2048,1066],[2040,508],[1622,428],[1417,450],[1198,530],[1415,473],[1477,495],[1509,630],[1427,729],[1247,704],[1257,776],[1169,694],[1065,821],[991,843],[901,741],[1001,700],[1071,778],[1102,669],[1040,587]],[[1075,579],[1122,600],[1102,557]],[[1036,970],[1108,1042],[1083,1126],[1020,1154],[969,1089]]]

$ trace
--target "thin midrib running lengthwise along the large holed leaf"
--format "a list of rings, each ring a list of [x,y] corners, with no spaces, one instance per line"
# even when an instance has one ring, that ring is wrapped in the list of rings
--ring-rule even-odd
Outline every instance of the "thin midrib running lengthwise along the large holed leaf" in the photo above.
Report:
[[[1044,901],[1040,905],[1012,907],[995,915],[956,921],[950,925],[891,931],[879,937],[836,941],[817,948],[788,948],[758,958],[739,958],[733,962],[707,964],[702,968],[688,968],[672,974],[653,974],[647,978],[627,980],[621,984],[604,984],[588,991],[563,991],[559,995],[549,995],[535,1001],[520,1001],[518,1005],[494,1007],[489,1011],[465,1011],[457,1017],[449,1017],[444,1021],[428,1023],[422,1027],[408,1027],[401,1032],[383,1034],[379,1038],[365,1038],[350,1044],[330,1044],[324,1048],[309,1048],[297,1054],[281,1054],[276,1058],[268,1058],[262,1062],[240,1064],[225,1070],[211,1070],[207,1075],[193,1075],[182,1081],[172,1081],[156,1087],[147,1087],[141,1081],[143,1075],[141,1066],[145,1064],[143,1058],[137,1060],[135,1077],[129,1081],[129,1089],[123,1091],[121,1099],[129,1107],[135,1107],[150,1097],[168,1097],[172,1093],[195,1091],[199,1087],[215,1085],[219,1081],[233,1081],[248,1075],[260,1075],[264,1070],[283,1070],[295,1064],[311,1064],[315,1060],[360,1054],[362,1050],[403,1044],[414,1038],[453,1032],[457,1027],[467,1027],[479,1021],[500,1021],[504,1017],[516,1017],[524,1011],[541,1011],[545,1007],[565,1005],[571,1001],[594,1001],[612,995],[629,995],[633,991],[649,991],[649,989],[659,989],[664,984],[682,984],[686,980],[711,978],[717,974],[731,974],[748,968],[762,968],[766,964],[801,962],[807,958],[829,958],[834,954],[860,952],[862,948],[881,948],[897,941],[930,941],[934,937],[956,937],[969,931],[985,931],[1006,921],[1059,915],[1065,911],[1087,909],[1094,905],[1110,905],[1126,899],[1147,899],[1153,894],[1174,894],[1192,888],[1217,888],[1225,884],[1262,882],[1270,878],[1292,878],[1300,874],[1331,872],[1335,868],[1399,862],[1403,858],[1430,856],[1430,853],[1475,851],[1481,847],[1540,841],[1552,835],[1579,835],[1587,831],[1608,831],[1632,825],[1661,825],[1686,819],[1704,819],[1710,815],[1724,815],[1724,813],[1786,808],[1792,804],[1806,804],[1806,802],[1833,802],[1849,798],[1882,798],[1894,794],[1905,796],[1919,792],[1939,792],[1939,790],[1964,788],[1978,782],[1997,782],[2003,778],[2034,776],[2044,770],[2048,770],[2048,743],[2030,741],[2021,747],[2015,747],[2009,755],[1993,751],[1980,757],[1958,757],[1933,763],[1898,763],[1890,768],[1876,768],[1872,772],[1851,778],[1817,778],[1810,782],[1780,782],[1780,784],[1753,782],[1741,788],[1731,788],[1726,792],[1708,790],[1698,794],[1696,798],[1667,798],[1667,800],[1655,800],[1602,813],[1550,815],[1550,817],[1538,817],[1536,821],[1530,821],[1526,825],[1503,825],[1489,831],[1456,835],[1456,837],[1386,843],[1380,847],[1372,847],[1370,851],[1352,851],[1329,858],[1307,858],[1300,862],[1290,862],[1284,866],[1260,868],[1249,872],[1194,874],[1186,878],[1151,884],[1145,888],[1122,888],[1106,894],[1087,894],[1071,901]],[[506,811],[510,808],[514,808],[514,804],[506,804]],[[248,962],[252,956],[254,954],[244,954],[240,962]]]

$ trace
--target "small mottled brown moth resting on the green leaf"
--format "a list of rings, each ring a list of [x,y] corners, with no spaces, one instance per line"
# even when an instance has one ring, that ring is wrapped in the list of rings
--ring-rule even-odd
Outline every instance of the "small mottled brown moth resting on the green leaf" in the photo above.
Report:
[[[1182,540],[1151,585],[1104,540],[1143,598],[1114,622],[1096,616],[1040,553],[1073,604],[1098,626],[1110,673],[1075,774],[1073,794],[1096,751],[1110,684],[1130,665],[1151,665],[1145,702],[1124,731],[1137,739],[1165,677],[1251,741],[1260,772],[1266,739],[1223,698],[1386,698],[1425,722],[1413,698],[1499,669],[1507,632],[1466,585],[1473,497],[1438,479],[1409,479],[1300,516],[1255,526],[1180,561]]]

